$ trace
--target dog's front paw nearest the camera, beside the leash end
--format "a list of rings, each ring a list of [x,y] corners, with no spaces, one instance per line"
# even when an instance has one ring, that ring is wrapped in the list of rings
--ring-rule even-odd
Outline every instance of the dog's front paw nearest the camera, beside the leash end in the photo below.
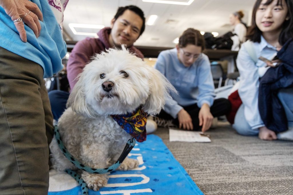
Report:
[[[81,178],[86,182],[89,189],[98,191],[101,187],[104,187],[108,183],[107,174],[91,174],[88,172],[83,172]]]

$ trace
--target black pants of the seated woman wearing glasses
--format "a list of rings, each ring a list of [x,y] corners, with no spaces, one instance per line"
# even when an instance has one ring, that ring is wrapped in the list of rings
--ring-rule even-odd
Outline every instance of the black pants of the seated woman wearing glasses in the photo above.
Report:
[[[190,106],[182,106],[184,110],[188,112],[192,119],[193,124],[193,130],[200,131],[201,127],[199,126],[199,119],[198,119],[198,113],[200,112],[200,108],[197,106],[197,104],[193,104]],[[222,115],[226,115],[231,109],[231,103],[229,100],[225,98],[215,99],[213,105],[210,108],[210,111],[213,115],[213,117],[219,117]],[[163,118],[166,120],[173,120],[173,123],[177,126],[179,126],[178,118],[174,119],[171,115],[166,113],[164,110],[162,110],[159,115],[157,115],[159,118]]]

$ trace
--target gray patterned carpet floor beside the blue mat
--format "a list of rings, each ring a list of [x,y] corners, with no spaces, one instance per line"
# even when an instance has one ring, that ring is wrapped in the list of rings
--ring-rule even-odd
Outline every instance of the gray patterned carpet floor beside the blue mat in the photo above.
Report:
[[[206,195],[293,194],[293,141],[241,136],[227,122],[207,133],[210,143],[170,142],[167,128],[154,132]]]

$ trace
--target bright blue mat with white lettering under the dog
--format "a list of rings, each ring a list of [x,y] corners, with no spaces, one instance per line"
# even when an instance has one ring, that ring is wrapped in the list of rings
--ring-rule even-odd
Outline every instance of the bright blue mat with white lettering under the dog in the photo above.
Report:
[[[88,194],[203,194],[160,137],[148,135],[147,141],[137,143],[128,156],[139,161],[139,168],[111,172],[107,186]],[[70,175],[50,171],[48,195],[75,194],[81,194],[81,189]]]

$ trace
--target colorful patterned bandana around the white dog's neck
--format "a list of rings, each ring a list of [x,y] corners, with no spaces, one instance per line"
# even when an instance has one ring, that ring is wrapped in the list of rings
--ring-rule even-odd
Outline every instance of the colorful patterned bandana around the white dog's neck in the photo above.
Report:
[[[141,107],[137,108],[133,113],[112,115],[112,118],[138,142],[143,142],[147,139],[147,113]]]

